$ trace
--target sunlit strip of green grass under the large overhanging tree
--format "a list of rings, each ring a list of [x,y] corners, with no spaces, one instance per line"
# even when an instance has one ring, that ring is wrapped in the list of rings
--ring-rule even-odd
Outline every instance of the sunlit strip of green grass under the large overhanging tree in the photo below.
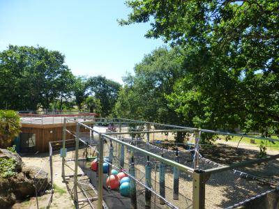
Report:
[[[253,136],[257,137],[257,135],[253,135]],[[225,140],[225,136],[218,136],[218,137],[220,137],[221,140]],[[276,136],[272,136],[271,138],[278,139],[278,137]],[[238,143],[240,139],[241,137],[232,137],[229,141],[234,141]],[[259,146],[263,142],[264,146],[266,146],[268,150],[279,150],[279,141],[272,142],[268,140],[255,139],[255,144],[251,144],[250,140],[251,139],[248,137],[243,137],[243,139],[241,139],[239,146],[243,146],[243,145]],[[218,141],[216,142],[218,143]]]

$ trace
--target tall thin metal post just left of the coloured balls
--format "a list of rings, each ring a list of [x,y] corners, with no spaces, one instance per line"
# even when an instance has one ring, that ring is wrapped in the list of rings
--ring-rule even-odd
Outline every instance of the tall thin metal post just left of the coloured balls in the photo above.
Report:
[[[99,134],[99,164],[98,164],[98,209],[103,208],[103,137]]]

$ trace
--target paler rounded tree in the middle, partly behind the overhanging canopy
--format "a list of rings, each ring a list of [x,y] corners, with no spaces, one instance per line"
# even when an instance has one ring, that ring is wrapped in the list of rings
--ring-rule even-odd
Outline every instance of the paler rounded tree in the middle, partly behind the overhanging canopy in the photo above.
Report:
[[[116,116],[179,123],[165,95],[172,93],[172,86],[181,76],[182,61],[179,48],[161,47],[144,56],[142,62],[135,65],[135,75],[124,78],[125,86],[114,109]]]

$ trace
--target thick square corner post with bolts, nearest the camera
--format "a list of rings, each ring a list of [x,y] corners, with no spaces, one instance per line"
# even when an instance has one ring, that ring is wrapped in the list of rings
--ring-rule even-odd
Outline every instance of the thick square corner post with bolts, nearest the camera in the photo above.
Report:
[[[204,209],[206,173],[201,170],[193,172],[193,209]]]

